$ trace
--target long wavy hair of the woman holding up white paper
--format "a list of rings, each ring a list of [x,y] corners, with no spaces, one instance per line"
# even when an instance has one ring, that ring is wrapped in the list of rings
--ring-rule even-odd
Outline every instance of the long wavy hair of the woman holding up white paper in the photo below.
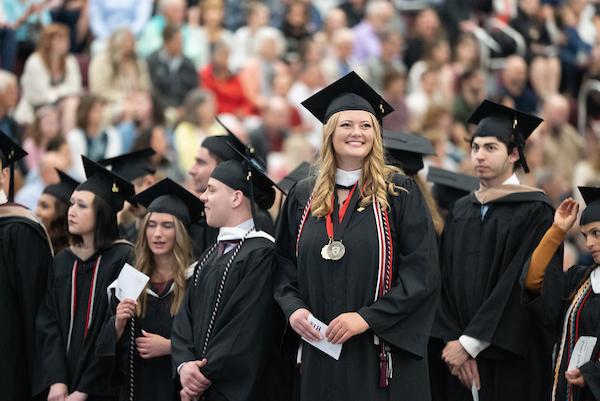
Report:
[[[142,228],[138,233],[138,240],[135,246],[135,266],[142,273],[152,277],[156,269],[156,264],[154,263],[154,254],[150,250],[148,239],[146,238],[146,229],[148,221],[150,221],[150,216],[152,216],[152,212],[146,214]],[[175,268],[173,269],[173,284],[175,284],[175,287],[173,289],[173,299],[171,300],[171,316],[175,316],[183,302],[186,289],[185,271],[192,260],[192,243],[185,226],[175,216],[173,216],[173,223],[175,226],[175,245],[172,251],[175,258]],[[150,283],[147,284],[146,288],[148,288],[148,285]],[[142,291],[140,302],[138,302],[136,307],[137,316],[144,316],[146,314],[147,301],[148,294],[146,291]]]

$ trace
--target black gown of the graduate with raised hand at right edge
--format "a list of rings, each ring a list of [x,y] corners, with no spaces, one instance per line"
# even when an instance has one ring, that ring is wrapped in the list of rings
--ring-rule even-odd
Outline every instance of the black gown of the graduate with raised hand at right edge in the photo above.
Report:
[[[529,265],[529,263],[527,264]],[[548,268],[544,275],[542,294],[533,296],[524,291],[524,303],[535,311],[546,324],[553,329],[556,340],[554,360],[558,354],[558,347],[563,335],[563,322],[565,314],[571,304],[573,295],[579,290],[590,272],[596,266],[573,266],[566,273],[560,268]],[[525,276],[524,272],[523,276]],[[600,339],[600,294],[590,289],[589,295],[575,313],[579,313],[578,336],[592,336]],[[574,343],[577,342],[577,337]],[[565,350],[568,352],[568,349]],[[560,371],[558,373],[558,385],[556,388],[556,400],[567,399],[567,382],[565,371],[569,364],[569,358],[562,358]],[[600,400],[600,341],[596,343],[592,353],[592,360],[580,368],[586,386],[583,388],[570,386],[573,401],[595,401]],[[552,378],[554,370],[552,371]],[[551,382],[552,383],[552,382]]]

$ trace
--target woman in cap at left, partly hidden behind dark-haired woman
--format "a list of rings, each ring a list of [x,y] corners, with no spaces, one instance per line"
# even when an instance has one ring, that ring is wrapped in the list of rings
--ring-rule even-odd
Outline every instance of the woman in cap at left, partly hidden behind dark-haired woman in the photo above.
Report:
[[[56,171],[60,182],[44,188],[35,209],[35,215],[48,231],[55,254],[69,246],[67,212],[71,205],[71,194],[80,184],[61,170]]]

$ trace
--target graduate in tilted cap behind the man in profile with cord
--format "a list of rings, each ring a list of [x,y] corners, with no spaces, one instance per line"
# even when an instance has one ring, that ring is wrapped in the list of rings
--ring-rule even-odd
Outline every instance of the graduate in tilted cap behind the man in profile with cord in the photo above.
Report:
[[[227,135],[209,136],[202,141],[196,152],[195,162],[188,172],[192,176],[192,184],[197,194],[203,194],[208,185],[208,178],[219,163],[227,160],[241,160],[242,154],[252,154],[252,149],[244,145],[229,129],[219,121]],[[259,163],[256,161],[256,163]],[[264,168],[263,168],[264,170]],[[258,224],[269,234],[275,231],[273,219],[267,210],[256,209]],[[194,257],[198,258],[215,243],[219,230],[206,224],[203,217],[190,227],[190,236],[194,247]]]

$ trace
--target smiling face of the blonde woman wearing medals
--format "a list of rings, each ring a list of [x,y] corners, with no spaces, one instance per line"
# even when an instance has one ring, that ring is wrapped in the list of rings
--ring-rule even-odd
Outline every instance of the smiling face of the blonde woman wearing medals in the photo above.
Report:
[[[363,110],[340,112],[332,136],[337,166],[344,170],[361,168],[373,149],[374,138],[371,113]]]

